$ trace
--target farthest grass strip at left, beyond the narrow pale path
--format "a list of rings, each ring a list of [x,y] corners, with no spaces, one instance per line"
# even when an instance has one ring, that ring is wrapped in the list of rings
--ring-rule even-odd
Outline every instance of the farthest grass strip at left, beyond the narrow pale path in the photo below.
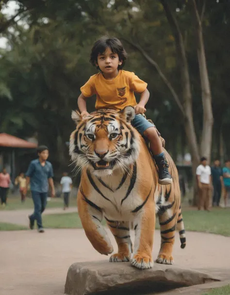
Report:
[[[71,197],[69,199],[69,206],[76,206],[77,201],[76,198]],[[63,199],[62,198],[51,198],[49,202],[47,202],[46,208],[62,208],[63,207]],[[7,205],[3,208],[0,206],[0,211],[5,210],[23,210],[23,209],[32,209],[33,208],[33,200],[32,198],[27,197],[24,203],[21,203],[20,196],[9,196],[7,198]]]

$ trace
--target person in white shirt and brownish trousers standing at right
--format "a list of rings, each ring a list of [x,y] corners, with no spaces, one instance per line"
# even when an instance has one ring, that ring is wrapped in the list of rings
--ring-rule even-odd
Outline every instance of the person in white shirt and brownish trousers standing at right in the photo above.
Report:
[[[204,207],[204,210],[209,210],[210,197],[212,190],[211,168],[207,165],[207,158],[200,159],[200,165],[197,167],[197,184],[199,190],[198,210]]]

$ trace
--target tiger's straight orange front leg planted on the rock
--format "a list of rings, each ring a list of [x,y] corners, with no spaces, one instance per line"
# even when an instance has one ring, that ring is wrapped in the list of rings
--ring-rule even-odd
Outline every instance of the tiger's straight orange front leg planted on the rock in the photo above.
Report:
[[[152,194],[149,196],[149,201],[150,199],[153,200]],[[131,264],[137,268],[145,269],[153,267],[152,245],[156,222],[155,205],[153,202],[147,202],[140,211],[134,218],[135,242]]]

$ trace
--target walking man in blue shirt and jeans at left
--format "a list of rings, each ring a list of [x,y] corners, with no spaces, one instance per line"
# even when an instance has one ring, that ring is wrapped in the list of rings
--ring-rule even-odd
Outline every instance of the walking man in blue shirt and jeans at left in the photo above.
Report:
[[[47,193],[49,186],[51,187],[51,195],[54,197],[55,189],[53,185],[53,168],[52,164],[47,161],[49,156],[49,149],[45,145],[37,148],[38,159],[31,161],[28,171],[26,172],[26,187],[30,183],[31,193],[34,204],[34,212],[29,216],[30,229],[33,230],[34,221],[37,221],[37,228],[39,233],[44,233],[42,226],[42,212],[46,208]]]

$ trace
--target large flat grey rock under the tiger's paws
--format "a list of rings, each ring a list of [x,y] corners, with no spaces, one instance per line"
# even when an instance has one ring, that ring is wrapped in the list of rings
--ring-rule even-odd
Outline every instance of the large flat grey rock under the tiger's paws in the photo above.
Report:
[[[137,295],[167,291],[218,280],[192,269],[154,264],[140,270],[130,263],[107,261],[72,264],[67,273],[65,294]]]

